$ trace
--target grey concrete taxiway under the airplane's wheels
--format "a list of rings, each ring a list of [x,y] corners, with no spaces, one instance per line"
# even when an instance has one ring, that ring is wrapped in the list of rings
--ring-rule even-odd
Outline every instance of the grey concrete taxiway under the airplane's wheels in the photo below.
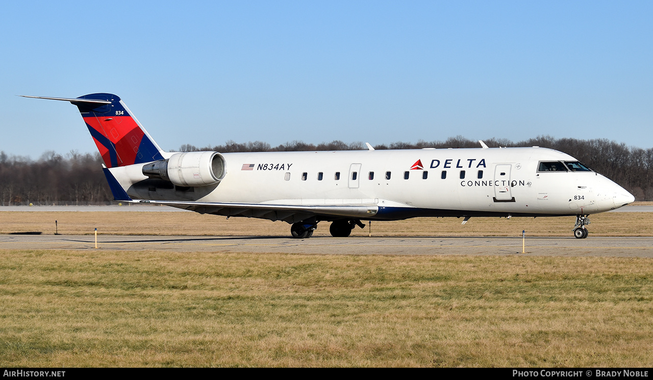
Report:
[[[99,250],[293,254],[522,254],[520,237],[210,237],[99,235]],[[653,257],[653,237],[527,237],[526,255]],[[0,235],[0,249],[95,250],[93,235]]]

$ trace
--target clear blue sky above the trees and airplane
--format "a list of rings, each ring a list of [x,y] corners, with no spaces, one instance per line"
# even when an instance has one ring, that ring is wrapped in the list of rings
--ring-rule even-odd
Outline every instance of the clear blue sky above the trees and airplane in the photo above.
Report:
[[[10,1],[0,150],[93,152],[119,95],[189,143],[552,135],[653,147],[652,1]]]

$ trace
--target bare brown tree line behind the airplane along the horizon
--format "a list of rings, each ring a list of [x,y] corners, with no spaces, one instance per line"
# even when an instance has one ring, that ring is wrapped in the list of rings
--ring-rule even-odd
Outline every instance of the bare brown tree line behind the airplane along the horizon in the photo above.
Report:
[[[653,148],[628,147],[607,139],[554,139],[539,136],[513,143],[507,139],[484,140],[489,147],[553,148],[584,162],[595,171],[617,182],[631,192],[638,201],[653,200]],[[375,149],[415,148],[477,148],[478,141],[451,137],[446,141],[397,142],[377,145]],[[263,141],[236,143],[227,141],[214,147],[182,145],[181,152],[214,150],[216,152],[288,152],[297,150],[362,150],[364,143],[332,141],[314,145],[291,141],[272,147]],[[65,156],[48,151],[39,160],[8,156],[0,151],[0,205],[98,205],[108,204],[113,196],[101,169],[99,154],[79,154],[71,151]]]

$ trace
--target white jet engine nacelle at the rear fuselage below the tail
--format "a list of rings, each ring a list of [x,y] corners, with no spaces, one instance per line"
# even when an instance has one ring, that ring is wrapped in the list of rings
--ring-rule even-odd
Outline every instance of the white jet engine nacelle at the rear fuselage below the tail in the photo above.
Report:
[[[143,165],[143,174],[177,186],[199,187],[220,182],[226,173],[225,158],[218,152],[175,153],[167,160]]]

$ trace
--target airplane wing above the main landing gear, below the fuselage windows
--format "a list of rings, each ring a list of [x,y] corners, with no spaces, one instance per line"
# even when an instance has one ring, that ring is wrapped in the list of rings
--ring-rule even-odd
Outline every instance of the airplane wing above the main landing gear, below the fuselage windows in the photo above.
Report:
[[[295,223],[311,216],[332,216],[338,218],[369,218],[376,215],[379,207],[374,203],[357,205],[275,205],[268,203],[219,203],[197,201],[151,201],[131,200],[131,203],[148,203],[167,205],[195,211],[200,214],[223,216],[245,216],[247,218],[264,218]]]

